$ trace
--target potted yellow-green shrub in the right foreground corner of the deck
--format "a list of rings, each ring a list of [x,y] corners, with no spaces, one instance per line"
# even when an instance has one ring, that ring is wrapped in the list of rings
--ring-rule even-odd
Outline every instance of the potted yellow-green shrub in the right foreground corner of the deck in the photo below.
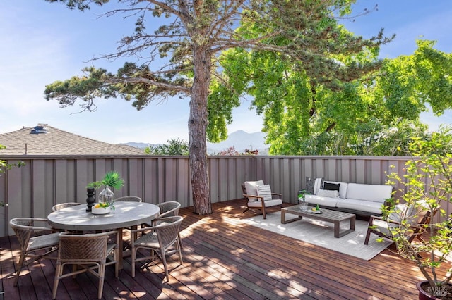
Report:
[[[451,128],[440,127],[427,139],[413,139],[409,149],[412,159],[405,165],[405,175],[388,175],[388,184],[398,187],[402,193],[398,200],[392,199],[394,206],[383,208],[389,236],[398,254],[415,263],[425,277],[417,285],[420,299],[452,299],[447,298],[452,296],[449,284],[452,266],[446,261],[452,251],[452,223],[451,216],[442,209],[443,204],[451,201]],[[412,225],[425,213],[434,217],[430,223],[421,225],[422,238],[411,242]],[[399,223],[395,225],[391,220]],[[446,266],[446,273],[444,268],[439,273],[441,265]],[[430,298],[423,298],[427,295]]]

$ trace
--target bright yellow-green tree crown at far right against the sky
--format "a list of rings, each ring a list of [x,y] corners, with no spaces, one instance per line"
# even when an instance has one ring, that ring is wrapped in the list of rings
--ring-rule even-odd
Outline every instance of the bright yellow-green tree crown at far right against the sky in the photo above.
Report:
[[[374,89],[386,118],[417,120],[427,104],[435,115],[452,108],[452,54],[433,49],[434,44],[418,40],[414,54],[386,59]]]

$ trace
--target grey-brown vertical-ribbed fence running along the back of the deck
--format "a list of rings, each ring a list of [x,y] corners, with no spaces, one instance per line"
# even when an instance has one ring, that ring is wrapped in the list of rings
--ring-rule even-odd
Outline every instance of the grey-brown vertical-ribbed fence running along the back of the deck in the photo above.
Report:
[[[19,216],[46,217],[54,204],[85,203],[86,185],[109,170],[126,184],[115,196],[140,196],[158,204],[179,201],[192,206],[189,159],[186,156],[8,156],[8,163],[24,161],[0,176],[0,237],[11,235],[8,220]],[[210,156],[210,198],[213,203],[242,198],[240,185],[260,180],[297,203],[305,177],[383,185],[386,173],[403,174],[408,157],[385,156]],[[390,168],[394,165],[395,168]],[[97,191],[98,193],[99,191]],[[447,209],[448,211],[448,209]]]

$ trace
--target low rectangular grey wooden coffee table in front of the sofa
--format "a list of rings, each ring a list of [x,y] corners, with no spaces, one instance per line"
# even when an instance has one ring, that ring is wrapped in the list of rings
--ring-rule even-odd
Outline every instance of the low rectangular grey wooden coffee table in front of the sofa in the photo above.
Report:
[[[287,224],[291,222],[295,222],[297,220],[301,220],[303,217],[311,218],[314,220],[321,220],[328,223],[334,224],[334,237],[343,237],[344,235],[349,234],[352,231],[355,231],[355,220],[356,215],[353,213],[343,213],[341,211],[332,211],[331,209],[321,208],[322,213],[309,213],[312,209],[311,206],[308,207],[308,211],[302,211],[301,206],[289,206],[285,208],[281,208],[281,223]],[[285,220],[286,213],[290,213],[291,215],[298,215],[298,218],[294,218],[291,220]],[[349,220],[350,221],[350,229],[343,230],[340,232],[340,222]]]

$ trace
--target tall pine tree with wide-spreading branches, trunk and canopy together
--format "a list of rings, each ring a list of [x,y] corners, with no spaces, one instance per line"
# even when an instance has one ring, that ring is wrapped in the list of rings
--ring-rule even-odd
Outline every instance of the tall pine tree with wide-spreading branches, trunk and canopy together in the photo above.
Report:
[[[110,2],[46,1],[80,11],[92,5],[107,6]],[[71,106],[81,100],[87,110],[95,108],[97,97],[121,96],[132,101],[139,110],[150,101],[189,96],[189,161],[194,213],[211,213],[206,137],[213,142],[215,138],[225,138],[231,110],[239,105],[235,94],[208,101],[210,84],[217,81],[222,84],[224,64],[220,65],[223,59],[220,53],[227,49],[268,51],[268,55],[274,53],[273,56],[280,58],[278,61],[297,62],[295,70],[317,74],[318,82],[331,82],[334,86],[335,77],[339,75],[355,77],[355,73],[375,68],[372,63],[343,65],[335,56],[364,47],[377,49],[387,42],[382,32],[375,38],[362,39],[336,26],[336,17],[350,13],[353,2],[121,0],[104,16],[124,13],[136,18],[135,31],[122,37],[117,51],[103,58],[134,56],[140,59],[139,63],[124,63],[116,73],[85,68],[85,75],[47,85],[44,93],[48,100],[56,99],[61,106]],[[150,24],[160,27],[151,31],[148,30]],[[157,68],[154,65],[159,59],[163,65]]]

